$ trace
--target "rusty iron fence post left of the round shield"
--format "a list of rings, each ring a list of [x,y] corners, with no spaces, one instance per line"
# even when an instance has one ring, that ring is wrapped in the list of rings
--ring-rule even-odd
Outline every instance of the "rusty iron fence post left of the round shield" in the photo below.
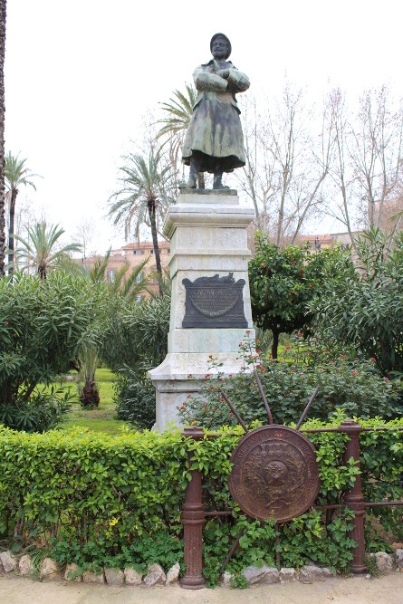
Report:
[[[204,433],[198,427],[186,427],[183,436],[199,440]],[[188,463],[192,453],[188,455]],[[186,574],[180,580],[180,585],[187,590],[200,590],[206,585],[203,578],[203,525],[205,513],[202,501],[202,475],[198,470],[190,470],[192,475],[187,484],[185,501],[182,505],[182,524],[184,540],[184,558]]]

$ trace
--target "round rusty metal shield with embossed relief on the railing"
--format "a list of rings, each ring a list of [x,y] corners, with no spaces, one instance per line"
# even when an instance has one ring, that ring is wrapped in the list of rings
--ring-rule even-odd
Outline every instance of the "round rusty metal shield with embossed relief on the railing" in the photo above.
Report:
[[[297,430],[264,426],[236,447],[228,486],[239,507],[258,520],[287,523],[306,512],[319,493],[312,443]]]

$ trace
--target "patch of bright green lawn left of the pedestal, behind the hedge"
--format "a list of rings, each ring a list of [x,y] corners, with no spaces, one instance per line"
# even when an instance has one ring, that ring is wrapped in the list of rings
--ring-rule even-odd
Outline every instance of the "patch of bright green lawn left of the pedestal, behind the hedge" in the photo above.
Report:
[[[77,378],[77,373],[69,374],[72,379]],[[100,406],[95,409],[83,409],[78,398],[77,386],[75,381],[64,381],[62,388],[70,389],[72,394],[72,410],[61,424],[61,429],[68,429],[72,426],[86,427],[93,432],[105,432],[110,435],[120,433],[121,427],[125,422],[116,419],[116,408],[113,403],[113,383],[116,379],[110,369],[97,369],[95,380],[100,389]]]

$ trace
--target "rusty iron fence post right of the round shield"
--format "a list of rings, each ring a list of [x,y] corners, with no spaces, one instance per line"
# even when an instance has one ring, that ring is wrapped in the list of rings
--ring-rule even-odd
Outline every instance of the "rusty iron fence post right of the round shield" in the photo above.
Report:
[[[349,420],[341,422],[340,431],[350,437],[346,446],[345,459],[346,461],[352,457],[355,465],[360,469],[360,432],[361,427],[358,422]],[[365,572],[365,538],[364,538],[364,516],[365,503],[362,496],[361,475],[355,477],[355,483],[352,488],[347,491],[344,496],[344,502],[351,510],[354,511],[354,528],[350,532],[350,537],[357,542],[353,548],[353,559],[351,571],[355,573]]]

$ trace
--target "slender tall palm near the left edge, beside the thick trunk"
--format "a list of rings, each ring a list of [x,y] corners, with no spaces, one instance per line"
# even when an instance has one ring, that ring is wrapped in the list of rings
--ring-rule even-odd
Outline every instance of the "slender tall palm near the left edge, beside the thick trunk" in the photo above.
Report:
[[[5,185],[8,188],[10,201],[9,221],[8,221],[8,273],[13,273],[14,270],[14,216],[15,216],[15,201],[18,195],[19,187],[33,187],[34,183],[30,178],[37,177],[29,168],[25,166],[26,158],[20,159],[17,156],[11,155],[8,151],[5,156]]]

